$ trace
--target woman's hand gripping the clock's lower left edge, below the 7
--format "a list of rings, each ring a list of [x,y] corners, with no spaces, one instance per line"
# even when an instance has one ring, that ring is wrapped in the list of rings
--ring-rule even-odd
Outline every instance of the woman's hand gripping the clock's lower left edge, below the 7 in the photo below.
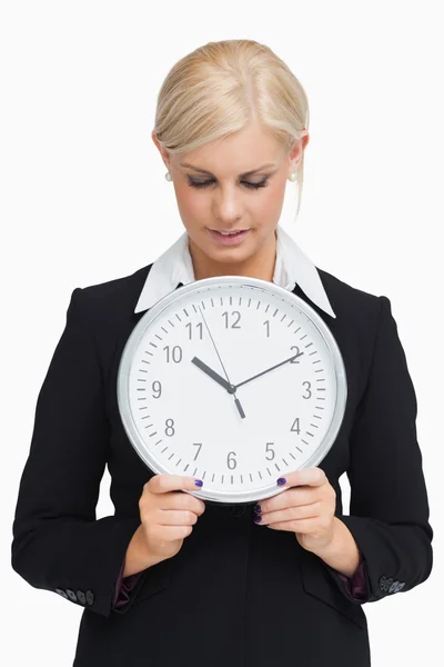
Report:
[[[194,477],[154,475],[143,486],[139,499],[142,532],[148,550],[155,559],[172,558],[204,512],[205,504],[182,489],[196,490]]]

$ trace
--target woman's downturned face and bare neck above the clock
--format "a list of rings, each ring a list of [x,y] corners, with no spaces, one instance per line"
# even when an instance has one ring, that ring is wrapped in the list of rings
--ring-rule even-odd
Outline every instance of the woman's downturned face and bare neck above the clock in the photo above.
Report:
[[[270,132],[250,125],[179,158],[160,147],[154,132],[152,139],[172,177],[195,279],[272,271],[286,178],[299,166],[307,131],[286,151]],[[223,245],[210,231],[238,229],[249,231],[235,245]]]

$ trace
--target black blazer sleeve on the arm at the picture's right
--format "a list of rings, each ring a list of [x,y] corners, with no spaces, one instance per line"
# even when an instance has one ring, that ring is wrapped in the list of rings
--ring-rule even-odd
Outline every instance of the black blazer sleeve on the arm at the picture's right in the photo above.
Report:
[[[350,438],[350,516],[339,517],[365,559],[370,603],[411,590],[433,565],[415,390],[390,299],[379,300],[369,380]],[[347,596],[345,584],[335,580]]]

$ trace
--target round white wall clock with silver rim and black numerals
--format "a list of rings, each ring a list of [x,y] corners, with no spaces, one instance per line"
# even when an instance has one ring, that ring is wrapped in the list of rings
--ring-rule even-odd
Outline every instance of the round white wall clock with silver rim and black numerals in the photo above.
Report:
[[[151,307],[118,371],[127,435],[155,474],[203,480],[210,502],[255,502],[317,466],[346,400],[337,344],[317,312],[273,282],[195,280]]]

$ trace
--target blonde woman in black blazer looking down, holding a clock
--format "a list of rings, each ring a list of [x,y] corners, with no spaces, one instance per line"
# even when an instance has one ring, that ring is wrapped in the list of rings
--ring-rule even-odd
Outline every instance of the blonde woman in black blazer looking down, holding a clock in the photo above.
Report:
[[[152,138],[185,232],[133,275],[72,292],[38,397],[12,567],[84,607],[74,666],[366,667],[363,606],[431,574],[416,399],[390,300],[317,269],[279,225],[286,181],[302,187],[307,120],[302,86],[265,46],[211,42],[184,57]],[[333,447],[260,507],[205,506],[180,492],[199,480],[153,475],[118,410],[119,360],[143,312],[223,275],[306,300],[347,374]],[[115,514],[97,520],[105,465]]]

